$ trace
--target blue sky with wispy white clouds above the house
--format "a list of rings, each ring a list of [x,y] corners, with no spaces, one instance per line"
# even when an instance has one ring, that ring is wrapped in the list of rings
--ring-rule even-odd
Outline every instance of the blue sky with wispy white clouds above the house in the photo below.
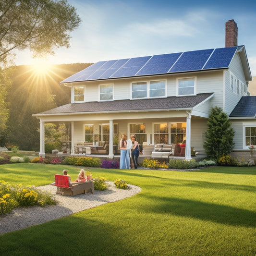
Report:
[[[97,62],[225,47],[225,23],[238,25],[256,76],[256,1],[68,0],[82,18],[70,48],[49,56],[50,64]],[[32,64],[29,51],[17,65]]]

